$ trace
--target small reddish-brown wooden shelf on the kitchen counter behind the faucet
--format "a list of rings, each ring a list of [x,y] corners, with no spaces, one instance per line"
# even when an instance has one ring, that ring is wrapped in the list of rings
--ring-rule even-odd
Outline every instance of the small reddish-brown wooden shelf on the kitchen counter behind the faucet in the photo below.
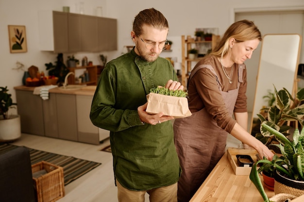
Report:
[[[69,84],[75,84],[75,71],[78,69],[84,69],[88,71],[89,74],[89,80],[88,82],[82,82],[81,84],[86,84],[86,85],[97,85],[97,81],[99,78],[100,73],[103,70],[103,66],[101,65],[92,65],[92,66],[79,66],[79,67],[69,67],[68,70],[70,72],[73,72],[74,75],[70,75],[68,77],[68,83]]]

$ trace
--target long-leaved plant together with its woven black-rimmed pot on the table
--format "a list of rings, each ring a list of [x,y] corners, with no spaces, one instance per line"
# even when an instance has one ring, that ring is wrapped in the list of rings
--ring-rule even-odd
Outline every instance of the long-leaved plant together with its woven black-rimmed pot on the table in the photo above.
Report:
[[[304,194],[304,130],[300,133],[299,129],[296,128],[293,133],[293,140],[290,141],[284,134],[272,128],[266,122],[263,122],[261,127],[284,143],[284,146],[282,144],[277,145],[281,150],[282,156],[275,156],[273,161],[269,161],[265,158],[258,160],[252,167],[249,175],[250,180],[256,186],[264,201],[270,202],[257,170],[257,165],[259,163],[263,163],[264,165],[269,164],[275,168],[275,194],[287,193],[293,196]],[[288,183],[285,184],[285,181]],[[297,184],[297,186],[294,186],[293,184]]]

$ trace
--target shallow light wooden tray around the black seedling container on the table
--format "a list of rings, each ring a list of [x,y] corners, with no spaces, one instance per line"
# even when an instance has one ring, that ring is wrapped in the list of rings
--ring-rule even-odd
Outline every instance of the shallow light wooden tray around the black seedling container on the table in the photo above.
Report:
[[[232,166],[233,171],[236,175],[249,175],[252,167],[240,167],[237,166],[236,155],[250,155],[254,162],[256,159],[257,152],[254,149],[237,149],[229,147],[227,150],[227,158]]]

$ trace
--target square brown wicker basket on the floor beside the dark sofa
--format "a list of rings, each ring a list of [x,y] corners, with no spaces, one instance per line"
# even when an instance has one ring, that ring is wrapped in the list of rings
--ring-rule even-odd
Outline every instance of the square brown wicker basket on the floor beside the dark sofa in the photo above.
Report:
[[[55,202],[64,197],[63,168],[46,161],[32,165],[33,175],[41,171],[45,172],[45,174],[36,178],[33,176],[37,202]]]

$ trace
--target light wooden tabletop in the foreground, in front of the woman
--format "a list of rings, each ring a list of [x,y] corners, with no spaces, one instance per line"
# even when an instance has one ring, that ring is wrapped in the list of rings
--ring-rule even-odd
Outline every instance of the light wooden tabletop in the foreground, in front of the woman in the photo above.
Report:
[[[262,181],[263,178],[260,175]],[[265,188],[267,196],[274,192]],[[263,199],[249,179],[249,175],[236,175],[227,158],[227,151],[194,194],[190,202],[262,202]],[[304,202],[304,195],[291,202]]]

